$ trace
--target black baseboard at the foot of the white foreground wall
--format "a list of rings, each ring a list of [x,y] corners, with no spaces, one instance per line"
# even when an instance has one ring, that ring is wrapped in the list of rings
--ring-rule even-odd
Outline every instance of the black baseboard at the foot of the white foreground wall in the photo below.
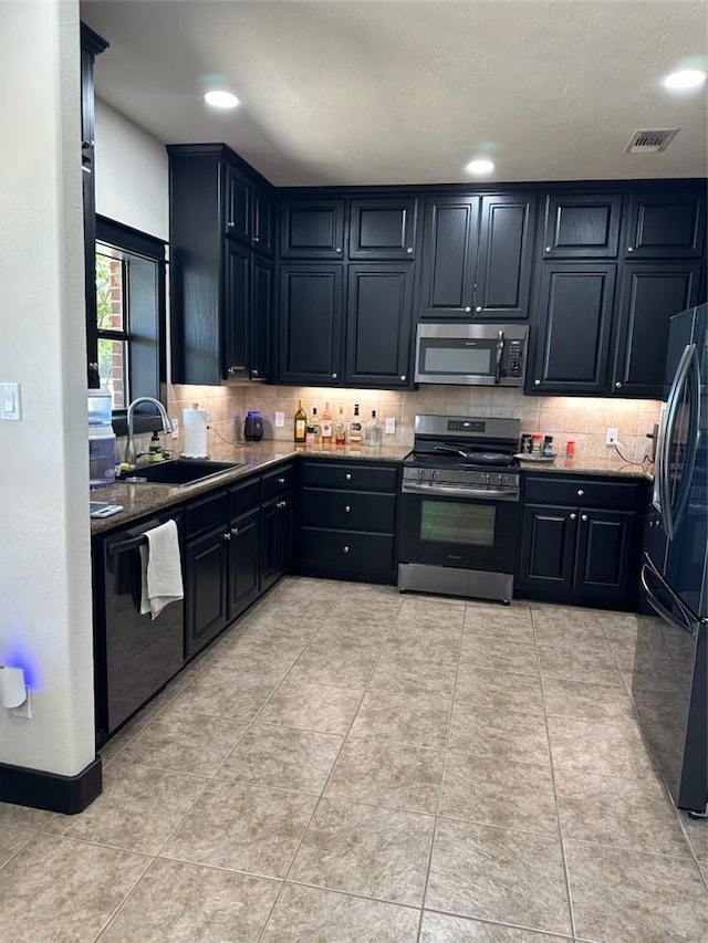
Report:
[[[101,795],[103,773],[96,756],[75,776],[0,763],[0,801],[76,815]]]

